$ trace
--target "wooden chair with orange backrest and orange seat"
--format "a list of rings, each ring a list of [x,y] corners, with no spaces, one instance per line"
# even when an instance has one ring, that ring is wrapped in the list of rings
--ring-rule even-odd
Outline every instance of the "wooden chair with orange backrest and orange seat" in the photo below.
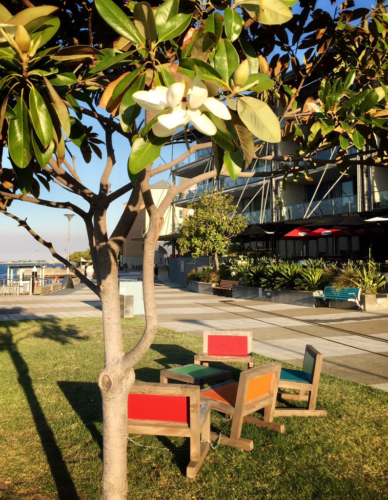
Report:
[[[253,441],[240,437],[242,422],[284,432],[284,425],[273,421],[280,369],[281,363],[249,368],[240,373],[238,382],[227,380],[200,391],[201,401],[208,401],[212,409],[232,416],[230,437],[221,434],[219,442],[246,451],[252,450]],[[251,415],[261,408],[264,408],[262,420]],[[211,440],[217,438],[215,432],[210,432]]]

